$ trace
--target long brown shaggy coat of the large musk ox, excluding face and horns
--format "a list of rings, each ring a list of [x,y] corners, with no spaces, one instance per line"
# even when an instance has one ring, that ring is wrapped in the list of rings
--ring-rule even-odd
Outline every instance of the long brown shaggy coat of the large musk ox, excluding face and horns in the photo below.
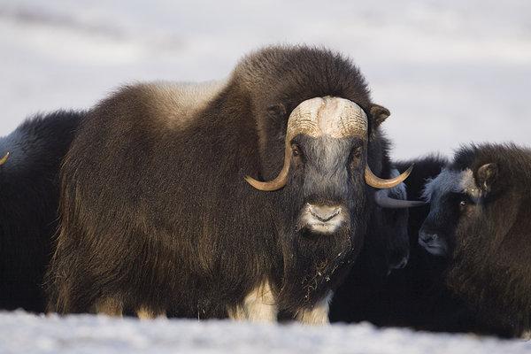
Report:
[[[243,177],[276,176],[289,112],[304,100],[341,96],[370,112],[358,68],[327,50],[260,50],[186,124],[170,126],[179,102],[153,92],[126,87],[98,104],[65,158],[50,311],[95,311],[112,298],[126,311],[222,318],[265,282],[281,311],[312,309],[356,258],[373,190],[353,175],[348,232],[301,237],[301,175],[269,193]],[[365,158],[385,173],[377,125],[370,116]]]

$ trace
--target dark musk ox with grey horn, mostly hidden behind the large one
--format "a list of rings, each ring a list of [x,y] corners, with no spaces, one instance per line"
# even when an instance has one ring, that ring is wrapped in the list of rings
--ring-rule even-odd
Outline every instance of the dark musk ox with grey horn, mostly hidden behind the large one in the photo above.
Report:
[[[415,167],[408,179],[415,175],[416,170]],[[392,170],[393,176],[399,174],[396,169]],[[390,204],[407,200],[405,184],[400,183],[393,189],[381,189],[376,192],[376,200],[384,198],[389,198]],[[422,206],[426,203],[402,204],[403,206]],[[397,207],[376,207],[373,210],[363,250],[347,279],[335,291],[330,306],[331,321],[380,323],[377,316],[392,316],[386,310],[382,310],[382,305],[385,307],[386,304],[381,304],[381,300],[388,295],[385,291],[389,274],[408,264],[410,255],[408,217],[409,213],[415,209],[417,208],[408,210]]]

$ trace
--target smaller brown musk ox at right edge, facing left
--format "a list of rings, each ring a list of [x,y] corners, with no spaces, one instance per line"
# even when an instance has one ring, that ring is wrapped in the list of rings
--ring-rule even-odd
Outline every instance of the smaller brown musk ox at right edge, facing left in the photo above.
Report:
[[[419,242],[448,258],[445,281],[482,322],[530,329],[531,150],[470,145],[427,183]]]

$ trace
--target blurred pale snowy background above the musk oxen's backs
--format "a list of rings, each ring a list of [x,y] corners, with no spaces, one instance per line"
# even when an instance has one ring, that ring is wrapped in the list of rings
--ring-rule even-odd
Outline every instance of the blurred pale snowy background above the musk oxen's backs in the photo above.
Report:
[[[221,79],[272,43],[350,56],[395,158],[530,140],[528,0],[0,0],[0,135],[124,83]]]

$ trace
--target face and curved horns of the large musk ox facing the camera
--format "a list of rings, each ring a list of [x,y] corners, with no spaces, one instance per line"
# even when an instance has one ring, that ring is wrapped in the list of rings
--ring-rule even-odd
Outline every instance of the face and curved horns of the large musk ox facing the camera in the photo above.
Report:
[[[367,131],[366,112],[358,104],[332,96],[305,100],[289,115],[281,172],[273,181],[246,181],[262,191],[285,188],[298,195],[297,231],[335,234],[350,227],[350,204],[365,188],[358,181],[389,189],[411,173],[410,168],[390,180],[376,177],[366,163]]]

